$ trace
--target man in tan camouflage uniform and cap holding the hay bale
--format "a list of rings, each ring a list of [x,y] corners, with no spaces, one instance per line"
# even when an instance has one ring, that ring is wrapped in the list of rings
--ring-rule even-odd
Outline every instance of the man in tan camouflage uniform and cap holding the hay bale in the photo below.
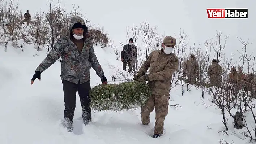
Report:
[[[148,125],[150,113],[155,108],[154,138],[163,134],[163,123],[168,114],[170,83],[172,74],[178,69],[179,64],[178,57],[172,53],[175,45],[176,39],[166,36],[162,43],[163,49],[151,52],[133,78],[140,82],[148,81],[152,90],[152,96],[146,105],[141,107],[141,121],[142,124]],[[145,74],[148,69],[149,74]]]

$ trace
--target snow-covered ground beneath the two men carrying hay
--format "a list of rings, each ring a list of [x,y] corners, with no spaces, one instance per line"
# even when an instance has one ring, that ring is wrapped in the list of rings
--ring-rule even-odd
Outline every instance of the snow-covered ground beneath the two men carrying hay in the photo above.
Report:
[[[111,48],[94,49],[111,81],[121,61],[116,60]],[[35,68],[46,54],[46,51],[37,52],[33,45],[25,45],[24,52],[11,46],[4,52],[4,47],[0,47],[0,144],[218,144],[222,139],[228,143],[248,143],[234,134],[232,118],[229,136],[219,133],[225,129],[222,114],[218,108],[210,106],[213,104],[207,100],[210,97],[207,93],[203,102],[200,89],[192,87],[181,95],[180,86],[170,91],[170,105],[179,106],[177,109],[169,107],[164,135],[160,138],[149,136],[154,130],[155,111],[148,127],[142,126],[139,109],[95,112],[92,123],[85,126],[78,94],[74,131],[68,133],[61,125],[64,100],[60,62],[44,71],[41,81],[37,79],[30,84]],[[101,83],[100,78],[91,69],[91,86],[98,83]]]

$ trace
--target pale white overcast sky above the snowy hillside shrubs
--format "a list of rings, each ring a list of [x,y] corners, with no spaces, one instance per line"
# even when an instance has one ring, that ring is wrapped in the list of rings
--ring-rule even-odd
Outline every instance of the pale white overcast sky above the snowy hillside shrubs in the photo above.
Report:
[[[47,11],[46,0],[19,0],[20,9],[26,12],[30,10]],[[29,3],[29,4],[27,4]],[[54,4],[57,0],[54,1]],[[250,38],[252,52],[256,47],[256,1],[255,0],[62,0],[67,11],[73,10],[72,4],[79,5],[86,13],[89,20],[95,24],[104,26],[108,30],[110,38],[116,45],[119,41],[126,43],[127,26],[139,25],[147,20],[152,26],[158,26],[158,32],[162,34],[178,34],[180,28],[189,34],[191,46],[193,43],[202,43],[208,37],[213,37],[216,30],[223,34],[230,34],[227,42],[226,54],[241,50],[241,44],[237,40]],[[248,19],[208,19],[206,8],[248,8]],[[237,55],[236,55],[237,56]]]

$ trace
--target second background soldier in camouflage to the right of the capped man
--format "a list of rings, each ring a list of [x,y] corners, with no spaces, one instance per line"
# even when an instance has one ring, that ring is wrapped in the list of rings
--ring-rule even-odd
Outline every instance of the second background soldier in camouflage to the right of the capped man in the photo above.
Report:
[[[207,73],[210,76],[210,86],[221,87],[222,67],[217,63],[216,59],[212,60],[212,65],[209,66]]]

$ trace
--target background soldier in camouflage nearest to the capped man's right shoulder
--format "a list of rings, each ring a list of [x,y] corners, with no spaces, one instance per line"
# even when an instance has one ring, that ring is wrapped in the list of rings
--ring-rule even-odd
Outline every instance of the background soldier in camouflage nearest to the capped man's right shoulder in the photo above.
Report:
[[[185,62],[183,68],[183,76],[187,75],[188,83],[190,84],[196,84],[196,77],[199,79],[199,65],[195,58],[195,54],[192,54],[190,56],[190,60]]]

